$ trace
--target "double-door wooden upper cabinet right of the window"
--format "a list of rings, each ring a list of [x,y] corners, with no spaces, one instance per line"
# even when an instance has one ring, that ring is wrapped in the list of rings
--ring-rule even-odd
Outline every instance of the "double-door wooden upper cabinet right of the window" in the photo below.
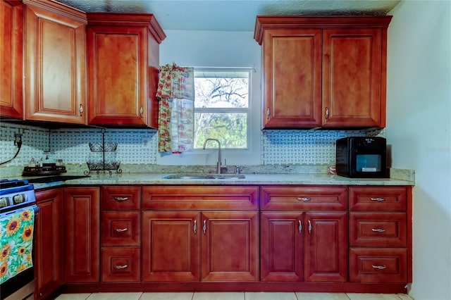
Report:
[[[258,16],[262,127],[385,127],[391,16]]]

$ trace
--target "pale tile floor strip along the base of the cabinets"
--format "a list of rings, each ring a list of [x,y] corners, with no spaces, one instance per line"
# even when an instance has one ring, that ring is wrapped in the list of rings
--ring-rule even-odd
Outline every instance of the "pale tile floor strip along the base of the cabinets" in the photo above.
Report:
[[[413,300],[406,294],[304,292],[146,292],[62,294],[56,300]]]

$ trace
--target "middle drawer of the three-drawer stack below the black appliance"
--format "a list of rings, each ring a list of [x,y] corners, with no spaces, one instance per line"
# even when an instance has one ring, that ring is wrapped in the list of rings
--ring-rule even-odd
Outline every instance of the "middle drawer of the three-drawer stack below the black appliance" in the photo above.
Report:
[[[350,213],[350,246],[407,246],[405,213]]]

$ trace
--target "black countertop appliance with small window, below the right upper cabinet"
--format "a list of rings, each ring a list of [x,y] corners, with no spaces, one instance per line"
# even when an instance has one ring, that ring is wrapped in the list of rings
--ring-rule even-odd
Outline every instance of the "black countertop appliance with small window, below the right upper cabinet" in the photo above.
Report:
[[[337,175],[386,178],[387,141],[383,137],[345,137],[336,142]]]

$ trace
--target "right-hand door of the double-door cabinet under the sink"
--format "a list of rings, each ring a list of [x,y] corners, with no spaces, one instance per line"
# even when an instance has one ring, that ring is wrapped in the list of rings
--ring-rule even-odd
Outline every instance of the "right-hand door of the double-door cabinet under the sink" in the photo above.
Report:
[[[201,213],[202,281],[259,280],[259,213]]]

